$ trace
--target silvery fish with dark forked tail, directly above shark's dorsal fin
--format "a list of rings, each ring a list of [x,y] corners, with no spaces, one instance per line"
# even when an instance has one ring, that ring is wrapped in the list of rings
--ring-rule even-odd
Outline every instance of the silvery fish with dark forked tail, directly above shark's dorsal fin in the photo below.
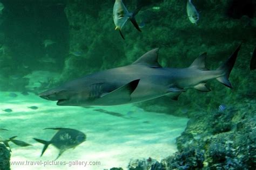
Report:
[[[132,24],[134,25],[134,27],[136,27],[136,29],[138,31],[141,32],[138,23],[136,22],[135,16],[137,15],[137,13],[139,12],[141,8],[137,8],[134,12],[129,12],[123,1],[122,0],[116,0],[114,2],[114,7],[113,7],[113,20],[114,20],[114,25],[116,25],[116,29],[118,30],[121,37],[123,39],[123,33],[122,33],[122,28],[125,25],[125,23],[127,22],[128,19],[130,19],[130,21],[132,22]]]

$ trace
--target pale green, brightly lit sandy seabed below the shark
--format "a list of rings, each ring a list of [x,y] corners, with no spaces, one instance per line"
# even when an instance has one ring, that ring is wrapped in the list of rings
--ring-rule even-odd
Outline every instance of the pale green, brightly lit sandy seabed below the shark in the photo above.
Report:
[[[177,151],[176,138],[184,131],[188,119],[157,112],[146,112],[134,105],[114,107],[59,107],[36,95],[24,96],[2,91],[0,98],[0,128],[2,138],[18,136],[32,146],[10,143],[11,169],[110,169],[127,168],[131,159],[161,159]],[[32,110],[28,107],[36,106]],[[12,112],[5,112],[12,109]],[[106,114],[95,109],[104,109]],[[113,112],[122,117],[113,116]],[[58,150],[50,145],[42,157],[43,144],[33,138],[50,140],[55,130],[72,128],[86,134],[86,141],[74,150],[65,151],[57,159]],[[15,165],[16,164],[16,165]],[[19,164],[19,165],[17,165]],[[23,164],[23,165],[21,165]],[[86,165],[85,165],[86,164]]]

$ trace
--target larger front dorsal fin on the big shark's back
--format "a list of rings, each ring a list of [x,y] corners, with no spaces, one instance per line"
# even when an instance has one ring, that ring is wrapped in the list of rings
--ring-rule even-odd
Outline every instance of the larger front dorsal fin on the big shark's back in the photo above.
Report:
[[[159,48],[154,48],[151,51],[142,55],[138,60],[134,61],[133,65],[147,65],[149,67],[161,67],[158,63]]]

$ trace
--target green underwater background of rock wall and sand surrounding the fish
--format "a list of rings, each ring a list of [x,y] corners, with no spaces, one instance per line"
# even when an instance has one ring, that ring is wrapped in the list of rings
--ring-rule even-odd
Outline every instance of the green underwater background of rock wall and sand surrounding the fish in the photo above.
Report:
[[[142,32],[127,22],[125,40],[114,30],[113,0],[0,0],[0,169],[255,169],[256,2],[194,0],[197,25],[185,0],[123,2],[142,7]],[[232,89],[213,80],[209,93],[188,89],[178,101],[87,108],[38,97],[158,47],[163,67],[188,67],[207,52],[216,69],[241,42]],[[40,157],[43,144],[33,139],[50,140],[56,131],[45,128],[76,129],[86,140],[51,163],[57,148]]]

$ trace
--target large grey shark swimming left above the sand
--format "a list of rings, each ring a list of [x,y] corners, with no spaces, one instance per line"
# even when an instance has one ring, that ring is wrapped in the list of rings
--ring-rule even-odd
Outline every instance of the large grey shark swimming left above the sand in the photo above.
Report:
[[[207,81],[218,80],[232,88],[228,80],[241,44],[216,70],[205,67],[207,53],[186,68],[163,68],[158,63],[158,48],[142,55],[131,65],[103,70],[58,87],[43,91],[39,97],[64,106],[107,106],[148,101],[161,96],[177,98],[188,88],[211,91]]]

